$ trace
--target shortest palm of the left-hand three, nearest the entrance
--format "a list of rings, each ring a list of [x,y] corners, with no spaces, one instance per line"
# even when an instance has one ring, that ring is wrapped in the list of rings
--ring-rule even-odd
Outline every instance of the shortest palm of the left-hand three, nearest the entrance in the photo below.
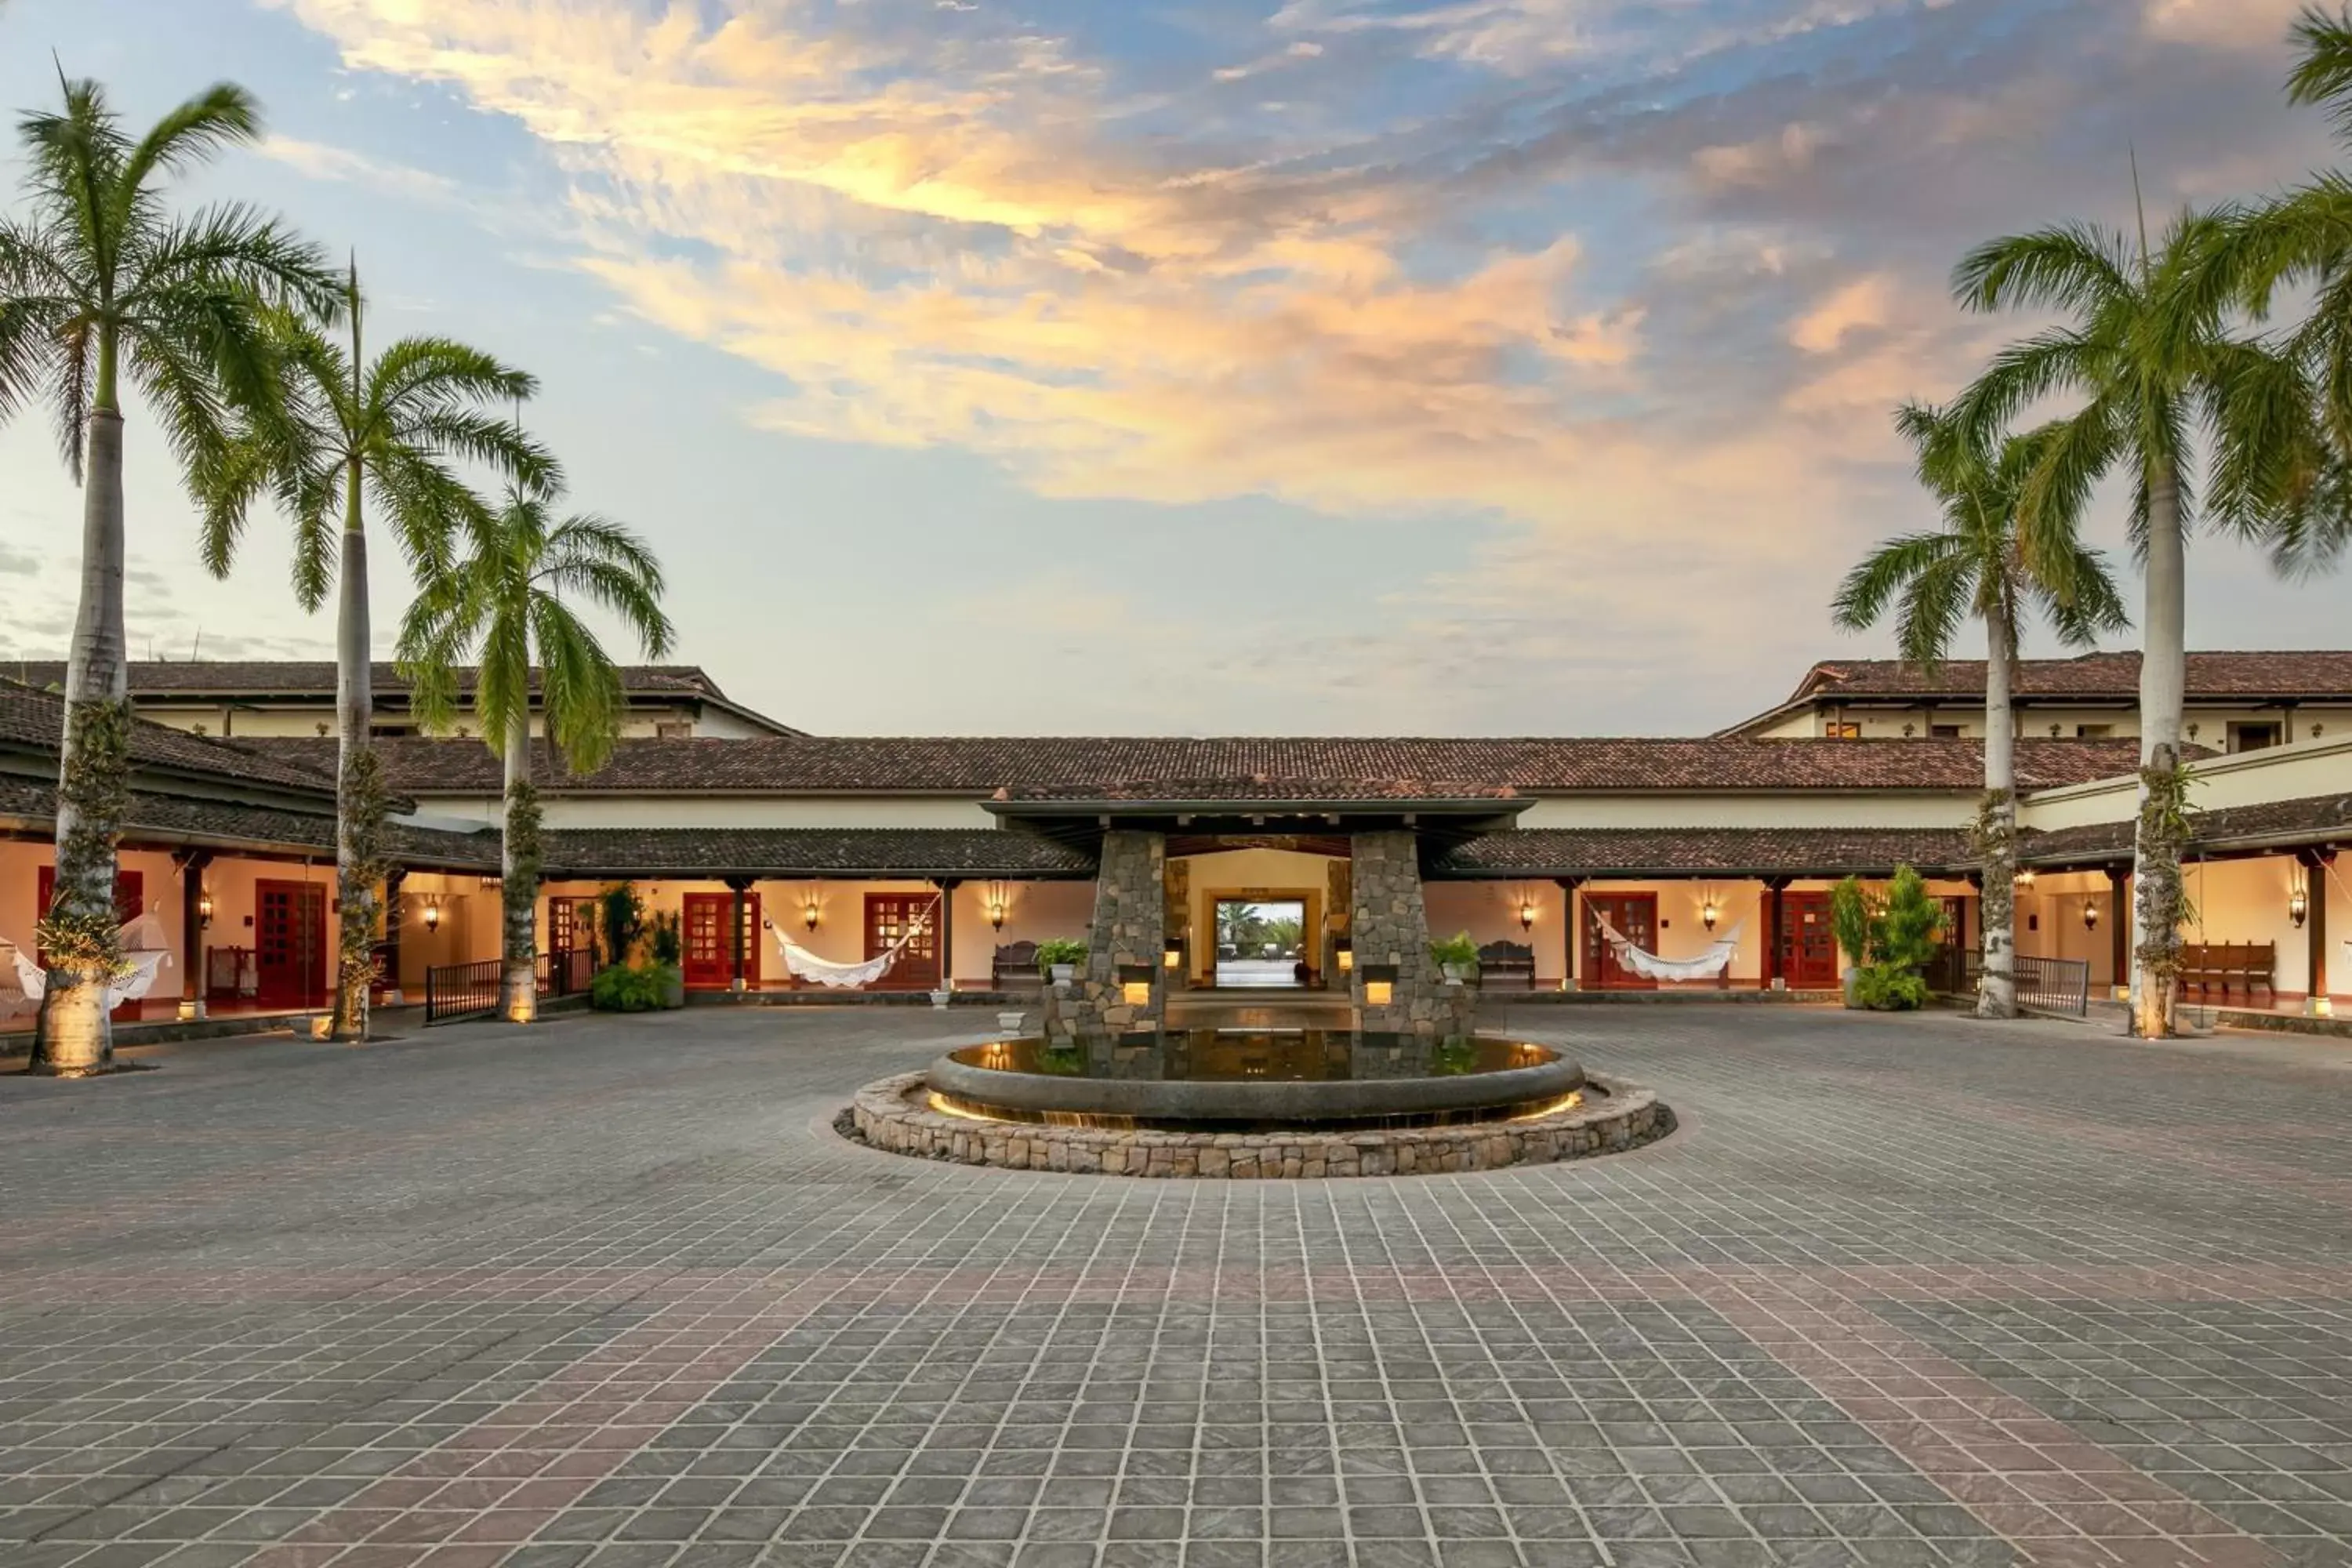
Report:
[[[579,595],[619,616],[647,658],[670,651],[661,564],[635,534],[595,515],[550,522],[550,487],[508,491],[475,520],[470,552],[430,581],[400,625],[400,670],[416,717],[445,726],[456,708],[454,668],[475,661],[473,712],[506,764],[501,903],[506,943],[499,1011],[529,1023],[539,1009],[539,792],[532,785],[532,670],[541,724],[572,773],[612,759],[621,733],[621,672],[564,602]]]

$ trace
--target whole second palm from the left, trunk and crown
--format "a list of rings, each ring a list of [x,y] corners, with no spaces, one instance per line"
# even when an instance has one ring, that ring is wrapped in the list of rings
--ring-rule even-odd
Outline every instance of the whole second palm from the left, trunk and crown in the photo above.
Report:
[[[358,268],[343,284],[350,350],[310,322],[280,315],[285,407],[247,425],[207,487],[205,567],[228,576],[252,503],[278,498],[294,524],[294,597],[315,611],[336,590],[336,898],[341,903],[334,1039],[367,1039],[367,987],[383,882],[386,790],[369,738],[374,717],[367,614],[367,501],[390,517],[409,571],[447,569],[473,491],[452,461],[548,480],[550,458],[485,404],[527,397],[532,376],[449,339],[409,336],[372,362],[362,353]]]

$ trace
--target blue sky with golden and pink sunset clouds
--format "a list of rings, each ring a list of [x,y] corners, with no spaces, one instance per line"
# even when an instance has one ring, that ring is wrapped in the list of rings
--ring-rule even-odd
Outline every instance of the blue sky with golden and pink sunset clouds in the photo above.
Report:
[[[1689,733],[1889,651],[1828,623],[1933,520],[1889,411],[2032,324],[1952,306],[1971,244],[2126,223],[2133,150],[2157,207],[2331,160],[2298,9],[0,0],[0,106],[247,85],[172,200],[534,371],[675,658],[802,729]],[[207,578],[127,444],[134,654],[329,656],[282,524]],[[0,658],[61,651],[78,512],[0,428]],[[2199,541],[2190,642],[2340,646],[2343,592]]]

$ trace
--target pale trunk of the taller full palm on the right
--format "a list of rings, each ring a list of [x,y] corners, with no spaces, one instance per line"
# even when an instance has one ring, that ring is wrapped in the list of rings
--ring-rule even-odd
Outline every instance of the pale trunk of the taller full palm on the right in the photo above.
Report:
[[[2187,686],[2187,538],[2180,477],[2169,461],[2152,463],[2147,475],[2147,604],[2140,621],[2140,771],[2169,773],[2180,766],[2180,705]],[[2143,778],[2143,806],[2147,795]],[[2166,973],[2150,973],[2147,959],[2180,950],[2180,853],[2150,832],[2145,811],[2133,842],[2131,879],[2131,1027],[2143,1039],[2164,1039],[2173,1032],[2171,964],[2161,964]]]

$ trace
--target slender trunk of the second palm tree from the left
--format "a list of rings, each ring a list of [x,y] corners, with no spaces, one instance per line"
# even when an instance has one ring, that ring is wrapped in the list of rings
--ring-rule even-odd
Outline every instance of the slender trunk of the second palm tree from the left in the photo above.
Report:
[[[341,900],[341,954],[334,987],[334,1039],[367,1039],[367,959],[376,943],[374,844],[381,839],[381,790],[374,788],[369,724],[374,668],[367,625],[367,529],[360,508],[360,458],[343,475],[343,562],[334,614],[336,835],[334,886]]]

